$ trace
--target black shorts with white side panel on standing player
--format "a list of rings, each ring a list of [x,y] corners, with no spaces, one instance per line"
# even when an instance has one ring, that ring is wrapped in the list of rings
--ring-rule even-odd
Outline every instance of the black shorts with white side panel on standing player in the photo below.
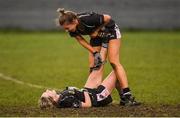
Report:
[[[108,45],[109,40],[121,38],[121,33],[117,25],[115,25],[113,28],[107,28],[106,33],[108,34],[106,38],[102,38],[102,37],[91,38],[90,45],[92,47],[103,46],[107,48],[106,45]]]

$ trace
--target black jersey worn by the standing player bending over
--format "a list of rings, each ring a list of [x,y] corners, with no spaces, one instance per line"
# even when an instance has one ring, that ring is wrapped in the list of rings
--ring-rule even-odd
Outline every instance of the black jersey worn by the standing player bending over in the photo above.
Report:
[[[104,16],[95,12],[86,12],[77,14],[79,24],[75,32],[69,32],[70,36],[90,35],[99,26],[104,24]],[[114,28],[115,23],[111,20],[105,28]]]

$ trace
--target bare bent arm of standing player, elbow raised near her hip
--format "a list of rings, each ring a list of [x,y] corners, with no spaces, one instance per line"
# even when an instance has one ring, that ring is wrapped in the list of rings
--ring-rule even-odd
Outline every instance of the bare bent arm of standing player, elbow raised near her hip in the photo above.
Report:
[[[91,38],[97,37],[97,35],[98,35],[99,31],[101,30],[101,28],[103,28],[103,27],[104,27],[106,24],[108,24],[109,21],[111,20],[111,16],[109,16],[109,15],[107,15],[107,14],[103,14],[103,16],[104,16],[104,23],[103,23],[101,26],[99,26],[99,27],[90,35]]]

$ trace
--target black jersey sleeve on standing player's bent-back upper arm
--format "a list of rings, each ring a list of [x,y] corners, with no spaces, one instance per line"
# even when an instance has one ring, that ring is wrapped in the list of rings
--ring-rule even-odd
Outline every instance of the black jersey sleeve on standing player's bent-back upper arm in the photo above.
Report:
[[[104,16],[102,14],[92,12],[91,15],[83,17],[82,20],[88,25],[101,26],[104,24]]]

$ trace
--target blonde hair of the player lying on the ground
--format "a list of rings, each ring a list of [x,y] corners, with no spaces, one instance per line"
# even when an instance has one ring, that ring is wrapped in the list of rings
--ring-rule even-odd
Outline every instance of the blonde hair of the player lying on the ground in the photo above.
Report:
[[[39,107],[41,109],[46,109],[46,108],[54,108],[54,100],[51,97],[40,97],[39,101]]]

